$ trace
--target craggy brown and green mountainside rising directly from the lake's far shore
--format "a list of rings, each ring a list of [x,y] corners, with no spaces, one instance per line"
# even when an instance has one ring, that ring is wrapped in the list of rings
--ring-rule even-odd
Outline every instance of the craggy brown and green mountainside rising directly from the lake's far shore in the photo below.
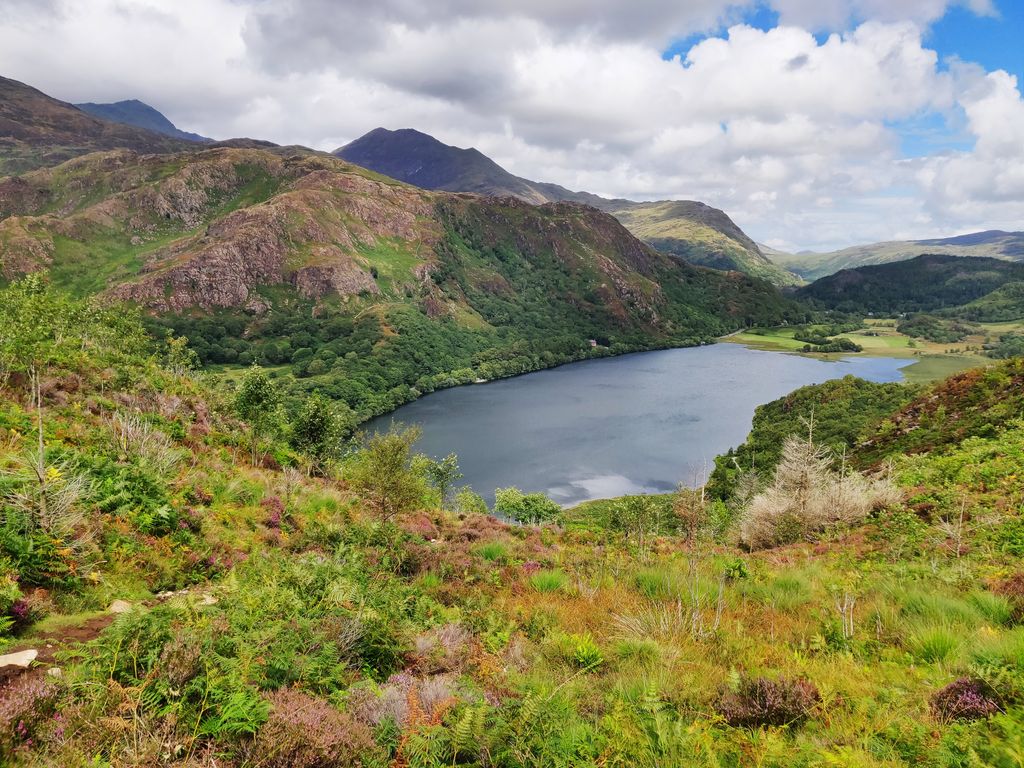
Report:
[[[0,270],[127,299],[204,362],[362,417],[424,391],[806,313],[577,203],[429,191],[290,148],[117,151],[0,179]]]

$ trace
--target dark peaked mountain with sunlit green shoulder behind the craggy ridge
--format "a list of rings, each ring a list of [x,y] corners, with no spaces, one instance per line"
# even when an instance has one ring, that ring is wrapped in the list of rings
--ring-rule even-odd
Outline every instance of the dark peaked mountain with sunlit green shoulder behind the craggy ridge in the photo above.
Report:
[[[450,146],[411,128],[377,128],[334,154],[424,189],[511,196],[532,204],[583,203],[610,213],[645,243],[690,263],[736,269],[779,286],[801,283],[769,261],[724,212],[703,203],[609,200],[558,184],[530,181],[509,173],[477,150]]]

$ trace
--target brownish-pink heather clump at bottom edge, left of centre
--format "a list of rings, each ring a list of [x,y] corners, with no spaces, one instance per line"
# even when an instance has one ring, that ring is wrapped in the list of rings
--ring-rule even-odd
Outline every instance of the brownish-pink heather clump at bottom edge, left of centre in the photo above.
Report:
[[[349,768],[374,763],[370,729],[318,698],[293,689],[267,696],[270,714],[256,734],[252,762],[263,768]]]

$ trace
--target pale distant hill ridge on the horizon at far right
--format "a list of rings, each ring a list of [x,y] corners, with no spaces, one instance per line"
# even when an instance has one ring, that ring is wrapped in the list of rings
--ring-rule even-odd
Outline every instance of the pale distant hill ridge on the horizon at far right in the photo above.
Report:
[[[1010,261],[1024,261],[1024,231],[1005,232],[990,229],[972,234],[939,240],[891,241],[866,246],[844,248],[829,253],[803,251],[787,254],[773,251],[773,261],[801,278],[815,281],[841,269],[852,269],[869,264],[888,264],[906,261],[924,253],[951,256],[979,256]]]

